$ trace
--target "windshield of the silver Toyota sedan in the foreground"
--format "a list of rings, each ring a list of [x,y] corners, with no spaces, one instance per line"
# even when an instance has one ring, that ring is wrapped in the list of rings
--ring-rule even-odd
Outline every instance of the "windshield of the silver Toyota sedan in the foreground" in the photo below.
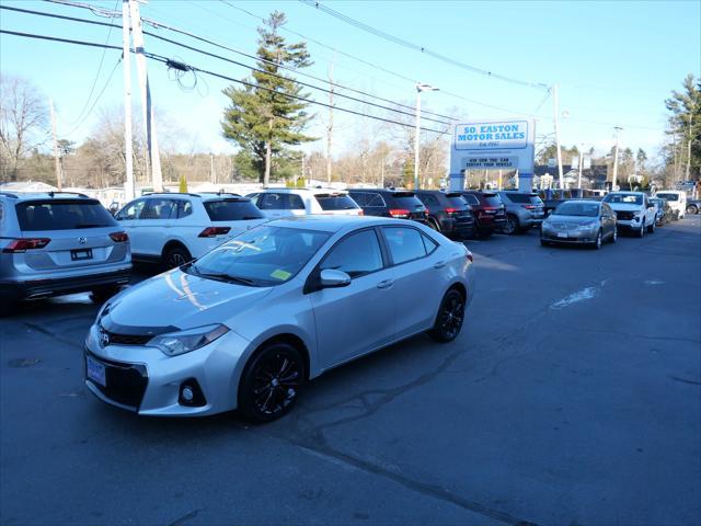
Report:
[[[278,285],[295,277],[330,236],[315,230],[261,226],[219,245],[183,270],[222,282],[258,287]]]

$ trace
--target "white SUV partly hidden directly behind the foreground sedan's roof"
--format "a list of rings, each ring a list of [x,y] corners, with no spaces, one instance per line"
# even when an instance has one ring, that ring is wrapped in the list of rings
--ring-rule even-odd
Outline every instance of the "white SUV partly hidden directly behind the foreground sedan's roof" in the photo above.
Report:
[[[330,188],[267,188],[249,194],[265,217],[325,214],[361,216],[363,208],[345,191]]]

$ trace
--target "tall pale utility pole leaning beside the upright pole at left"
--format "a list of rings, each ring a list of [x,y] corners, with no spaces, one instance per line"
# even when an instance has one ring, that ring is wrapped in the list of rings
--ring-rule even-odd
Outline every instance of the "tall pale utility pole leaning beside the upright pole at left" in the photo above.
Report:
[[[161,173],[161,156],[158,149],[158,136],[156,134],[156,113],[151,104],[151,88],[149,75],[146,69],[146,56],[143,55],[143,33],[141,30],[141,14],[139,13],[140,0],[128,0],[131,13],[131,26],[134,30],[134,50],[136,52],[136,72],[139,77],[141,90],[141,114],[143,118],[143,135],[148,150],[147,170],[151,172],[151,183],[156,192],[163,191],[163,175]]]

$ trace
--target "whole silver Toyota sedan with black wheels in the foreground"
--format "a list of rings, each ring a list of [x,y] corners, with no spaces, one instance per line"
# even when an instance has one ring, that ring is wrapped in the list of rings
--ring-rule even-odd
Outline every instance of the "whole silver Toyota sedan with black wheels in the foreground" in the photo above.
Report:
[[[414,221],[274,220],[111,299],[85,385],[146,415],[285,414],[308,380],[414,334],[455,340],[472,254]]]

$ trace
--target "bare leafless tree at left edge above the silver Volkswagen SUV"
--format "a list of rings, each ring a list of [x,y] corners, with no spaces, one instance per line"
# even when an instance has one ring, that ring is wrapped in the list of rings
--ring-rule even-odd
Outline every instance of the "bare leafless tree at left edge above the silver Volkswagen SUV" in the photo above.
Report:
[[[21,77],[0,77],[0,162],[11,181],[21,159],[46,140],[48,110],[36,88]]]

